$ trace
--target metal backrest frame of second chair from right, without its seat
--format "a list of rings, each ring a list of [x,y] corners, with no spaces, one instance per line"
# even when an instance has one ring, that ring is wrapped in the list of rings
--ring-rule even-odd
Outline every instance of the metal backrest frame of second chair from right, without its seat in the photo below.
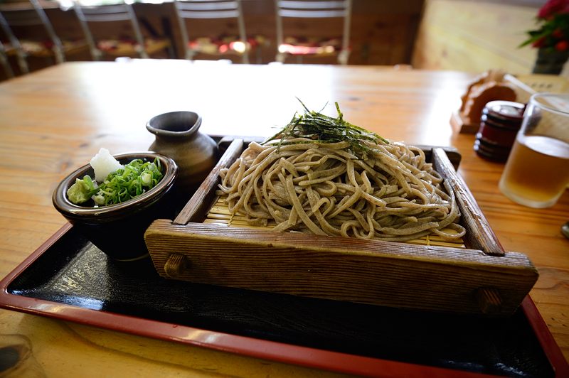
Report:
[[[193,60],[196,52],[189,46],[188,28],[185,19],[188,18],[235,18],[239,29],[239,39],[247,46],[247,33],[241,0],[174,0],[176,16],[180,26],[180,35],[184,42],[186,59]],[[243,52],[243,63],[249,63],[247,50]]]

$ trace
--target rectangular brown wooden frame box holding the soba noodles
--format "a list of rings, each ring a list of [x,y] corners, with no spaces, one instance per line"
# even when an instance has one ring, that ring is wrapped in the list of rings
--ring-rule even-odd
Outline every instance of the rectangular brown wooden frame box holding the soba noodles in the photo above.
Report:
[[[168,279],[450,313],[511,315],[538,278],[524,254],[504,252],[457,175],[456,151],[422,147],[450,183],[467,229],[465,248],[322,237],[203,223],[219,172],[245,144],[233,140],[174,221],[144,235],[156,271]]]

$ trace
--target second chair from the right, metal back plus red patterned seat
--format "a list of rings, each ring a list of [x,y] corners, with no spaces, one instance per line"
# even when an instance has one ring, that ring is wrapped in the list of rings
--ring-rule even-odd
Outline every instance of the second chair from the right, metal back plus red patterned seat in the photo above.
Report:
[[[245,33],[245,22],[243,21],[243,10],[241,0],[174,0],[176,16],[180,26],[180,35],[184,42],[184,52],[186,59],[193,60],[197,53],[210,55],[225,55],[235,53],[242,57],[243,63],[249,63],[249,45],[247,34]],[[238,38],[227,38],[226,41],[210,41],[208,38],[198,38],[190,40],[186,19],[204,18],[235,18],[237,20],[239,36]],[[205,45],[211,47],[210,50],[204,48]]]

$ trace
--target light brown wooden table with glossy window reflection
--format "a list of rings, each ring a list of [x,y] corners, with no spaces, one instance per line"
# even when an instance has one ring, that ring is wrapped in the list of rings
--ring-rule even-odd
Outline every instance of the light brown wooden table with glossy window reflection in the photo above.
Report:
[[[6,276],[65,220],[51,204],[55,185],[100,147],[146,150],[146,121],[191,109],[209,134],[268,136],[299,109],[338,101],[344,118],[409,144],[454,146],[459,173],[504,248],[523,252],[540,278],[531,298],[569,358],[569,193],[533,210],[509,201],[497,183],[503,164],[479,158],[474,136],[453,134],[450,114],[472,75],[385,67],[224,65],[167,60],[65,63],[0,84],[0,276]],[[326,108],[332,112],[332,108]],[[200,347],[0,311],[0,341],[28,338],[31,371],[47,376],[174,374],[333,375]],[[19,336],[14,336],[19,335]]]

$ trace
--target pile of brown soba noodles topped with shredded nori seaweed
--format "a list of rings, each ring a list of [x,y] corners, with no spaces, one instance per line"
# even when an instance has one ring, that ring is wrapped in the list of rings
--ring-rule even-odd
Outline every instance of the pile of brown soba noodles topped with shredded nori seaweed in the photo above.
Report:
[[[230,212],[251,225],[274,223],[279,232],[390,241],[462,237],[454,194],[423,151],[354,126],[337,103],[336,109],[334,118],[304,107],[223,169],[218,193]]]

